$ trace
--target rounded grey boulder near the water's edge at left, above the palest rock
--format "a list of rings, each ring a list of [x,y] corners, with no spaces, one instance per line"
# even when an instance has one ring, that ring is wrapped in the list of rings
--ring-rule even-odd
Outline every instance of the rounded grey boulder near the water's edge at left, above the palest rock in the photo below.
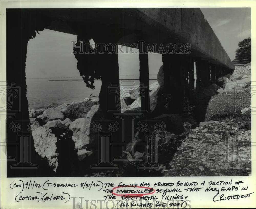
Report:
[[[49,120],[64,120],[64,115],[60,110],[54,107],[46,109],[42,115],[37,116],[37,120],[41,125],[46,124]]]

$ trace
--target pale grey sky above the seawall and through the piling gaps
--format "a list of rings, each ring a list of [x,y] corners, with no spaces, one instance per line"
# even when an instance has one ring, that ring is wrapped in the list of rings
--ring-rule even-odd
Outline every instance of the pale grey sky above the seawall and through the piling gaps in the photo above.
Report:
[[[230,59],[235,58],[238,42],[251,37],[250,8],[201,8],[202,13],[217,35]],[[72,54],[73,43],[77,37],[53,30],[44,29],[39,35],[28,41],[26,77],[49,78],[80,76],[76,68],[77,60]],[[139,78],[138,53],[118,54],[119,74],[136,75]],[[150,78],[156,74],[162,65],[161,54],[149,54]],[[127,78],[127,77],[125,77]]]

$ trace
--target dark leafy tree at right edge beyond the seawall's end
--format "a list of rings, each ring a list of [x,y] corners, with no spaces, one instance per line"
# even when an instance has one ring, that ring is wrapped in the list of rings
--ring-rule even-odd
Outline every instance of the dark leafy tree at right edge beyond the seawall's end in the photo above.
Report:
[[[238,43],[238,49],[236,50],[236,59],[243,60],[251,59],[251,38],[248,37]]]

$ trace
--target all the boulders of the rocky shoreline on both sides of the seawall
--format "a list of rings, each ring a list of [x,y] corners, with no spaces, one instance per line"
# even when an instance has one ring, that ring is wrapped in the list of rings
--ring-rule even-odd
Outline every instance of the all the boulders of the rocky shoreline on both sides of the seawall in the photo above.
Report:
[[[150,117],[152,120],[162,120],[167,124],[166,136],[173,136],[173,134],[184,136],[186,131],[195,125],[195,120],[191,113],[189,113],[190,119],[184,118],[184,115],[165,114],[165,108],[169,107],[168,102],[167,104],[163,103],[163,101],[167,101],[162,94],[163,82],[163,68],[161,67],[157,74],[157,81],[151,84],[149,89]],[[218,85],[213,83],[197,94],[202,98],[217,94],[229,95],[241,83],[244,86],[251,84],[250,63],[236,67],[232,75],[227,74],[219,78]],[[121,88],[120,98],[121,113],[128,113],[127,115],[129,115],[131,110],[140,110],[140,89],[138,86]],[[191,112],[192,107],[188,108]],[[45,109],[29,109],[29,118],[34,126],[32,135],[35,150],[42,159],[48,161],[50,168],[57,172],[57,175],[63,175],[61,173],[63,171],[66,175],[70,175],[72,172],[76,173],[75,170],[79,167],[77,163],[93,155],[90,146],[97,144],[98,133],[91,130],[91,123],[94,120],[104,120],[99,105],[99,97],[96,95],[90,95],[83,101],[64,103],[57,107],[49,104]],[[161,145],[159,146],[161,147]],[[144,155],[142,152],[137,153],[141,156]],[[130,155],[128,152],[126,154],[128,158]],[[71,176],[73,175],[71,174]]]

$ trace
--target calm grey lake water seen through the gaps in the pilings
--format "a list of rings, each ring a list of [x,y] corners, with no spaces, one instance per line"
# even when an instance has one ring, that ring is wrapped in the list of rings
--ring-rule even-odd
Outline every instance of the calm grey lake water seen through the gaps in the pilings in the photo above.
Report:
[[[156,80],[150,80],[149,84]],[[138,85],[139,80],[120,81],[120,85]],[[95,89],[86,87],[81,81],[49,81],[49,79],[27,79],[27,98],[29,109],[45,108],[48,104],[55,107],[63,103],[79,102],[90,94],[99,95],[101,80],[95,80]]]

